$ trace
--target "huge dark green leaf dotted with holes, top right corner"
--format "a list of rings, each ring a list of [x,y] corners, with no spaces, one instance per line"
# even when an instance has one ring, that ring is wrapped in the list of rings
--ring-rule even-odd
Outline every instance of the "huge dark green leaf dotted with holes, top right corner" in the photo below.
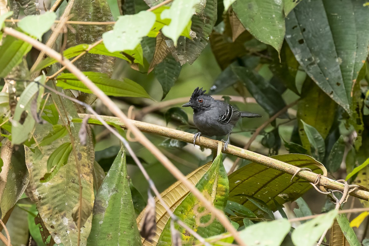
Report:
[[[353,80],[368,55],[365,0],[301,1],[286,21],[286,40],[307,74],[350,112]]]

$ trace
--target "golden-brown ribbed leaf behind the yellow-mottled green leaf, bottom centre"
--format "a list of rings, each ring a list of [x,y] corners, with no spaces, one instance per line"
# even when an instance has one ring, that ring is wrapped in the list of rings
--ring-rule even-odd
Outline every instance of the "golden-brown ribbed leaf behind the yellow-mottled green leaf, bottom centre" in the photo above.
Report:
[[[192,184],[196,184],[201,179],[201,177],[203,177],[203,175],[210,168],[210,166],[211,166],[211,162],[194,170],[192,173],[186,176],[187,180],[189,180]],[[172,184],[169,188],[167,188],[165,191],[163,191],[161,193],[161,197],[166,202],[166,205],[172,211],[174,211],[174,209],[176,209],[177,206],[180,205],[180,203],[183,201],[183,199],[186,197],[187,194],[189,194],[188,188],[184,186],[184,184],[182,184],[180,181],[177,181],[176,183]],[[156,236],[153,240],[154,242],[158,242],[158,239],[164,229],[164,226],[168,223],[170,216],[168,212],[165,210],[165,208],[163,207],[163,205],[158,201],[158,198],[155,198],[155,202],[156,202],[156,210],[155,210],[156,216],[155,217],[156,217],[156,224],[158,227],[156,229]],[[139,229],[142,226],[142,223],[143,223],[142,218],[144,214],[145,214],[145,209],[137,217],[137,225]],[[151,244],[149,242],[144,242],[143,245],[149,246]]]

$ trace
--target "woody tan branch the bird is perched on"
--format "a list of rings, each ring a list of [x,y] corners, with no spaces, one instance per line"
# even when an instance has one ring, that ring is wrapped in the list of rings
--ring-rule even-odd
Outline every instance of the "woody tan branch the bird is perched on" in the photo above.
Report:
[[[79,114],[79,117],[85,118],[86,115],[88,114]],[[94,117],[93,115],[88,115],[88,116],[91,119],[96,119],[96,117]],[[127,125],[125,125],[124,122],[122,122],[117,117],[101,115],[101,118],[103,118],[105,121],[113,122],[117,125],[120,125],[123,128],[127,128]],[[177,129],[162,127],[159,125],[150,124],[150,123],[146,123],[142,121],[135,121],[135,120],[129,120],[129,121],[131,124],[133,124],[135,127],[140,129],[142,132],[148,132],[148,133],[159,135],[159,136],[165,136],[167,138],[177,139],[177,140],[187,142],[187,143],[193,143],[194,135],[189,132],[183,132]],[[208,149],[217,150],[218,142],[219,141],[217,140],[201,136],[200,141],[196,140],[195,143],[199,146],[203,146]],[[238,156],[246,160],[251,160],[253,162],[257,162],[264,166],[272,167],[274,169],[277,169],[277,170],[280,170],[280,171],[283,171],[285,173],[289,173],[292,175],[298,172],[296,176],[300,177],[301,179],[310,181],[312,183],[314,183],[318,178],[318,174],[313,173],[311,171],[300,170],[299,167],[293,166],[285,162],[281,162],[280,160],[276,160],[268,156],[264,156],[264,155],[246,150],[246,149],[239,148],[237,146],[228,145],[227,150],[223,151],[223,153]],[[321,176],[320,185],[327,187],[329,189],[344,191],[344,185],[342,183],[332,180],[328,177]],[[356,190],[350,194],[362,200],[366,200],[366,201],[369,200],[369,191],[366,191],[366,190]]]

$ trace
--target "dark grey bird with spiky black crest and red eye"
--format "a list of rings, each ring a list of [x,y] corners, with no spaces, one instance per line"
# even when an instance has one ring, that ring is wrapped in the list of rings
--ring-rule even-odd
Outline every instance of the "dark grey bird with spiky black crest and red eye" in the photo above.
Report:
[[[254,114],[246,111],[238,111],[237,108],[223,101],[215,100],[213,97],[205,94],[206,90],[197,87],[190,98],[190,101],[183,104],[182,107],[191,107],[193,109],[193,122],[200,132],[197,132],[193,138],[195,145],[196,138],[201,134],[207,136],[224,136],[228,134],[227,141],[224,142],[224,150],[230,142],[230,134],[239,118],[262,117],[260,114]]]

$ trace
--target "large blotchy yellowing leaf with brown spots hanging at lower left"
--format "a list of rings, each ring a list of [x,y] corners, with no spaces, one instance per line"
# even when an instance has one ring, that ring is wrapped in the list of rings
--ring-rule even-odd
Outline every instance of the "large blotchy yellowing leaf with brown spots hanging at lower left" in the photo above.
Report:
[[[61,91],[61,89],[59,89]],[[68,93],[70,96],[71,93]],[[77,118],[77,111],[73,102],[55,94],[51,95],[58,107],[60,115],[59,124],[62,119]],[[52,104],[51,99],[47,104]],[[78,108],[81,110],[81,108]],[[92,207],[94,201],[92,167],[94,162],[94,149],[92,144],[92,134],[90,128],[87,128],[89,138],[86,146],[79,143],[78,132],[81,123],[71,122],[69,124],[70,132],[73,135],[73,145],[68,162],[62,166],[55,177],[46,183],[41,183],[40,179],[47,173],[47,161],[50,155],[58,146],[66,142],[71,142],[70,136],[64,136],[42,148],[42,153],[36,145],[32,151],[26,148],[26,164],[30,173],[30,184],[27,189],[32,201],[37,204],[38,212],[44,221],[45,228],[49,231],[59,245],[77,245],[78,229],[72,218],[72,210],[79,203],[79,177],[76,164],[79,164],[80,177],[82,183],[82,197],[90,203]],[[40,142],[45,136],[53,131],[51,124],[37,125],[35,129],[35,138]],[[76,151],[76,152],[74,152]],[[77,159],[76,159],[77,158]],[[92,215],[87,219],[85,225],[81,228],[80,245],[86,245],[87,237],[91,230]]]

